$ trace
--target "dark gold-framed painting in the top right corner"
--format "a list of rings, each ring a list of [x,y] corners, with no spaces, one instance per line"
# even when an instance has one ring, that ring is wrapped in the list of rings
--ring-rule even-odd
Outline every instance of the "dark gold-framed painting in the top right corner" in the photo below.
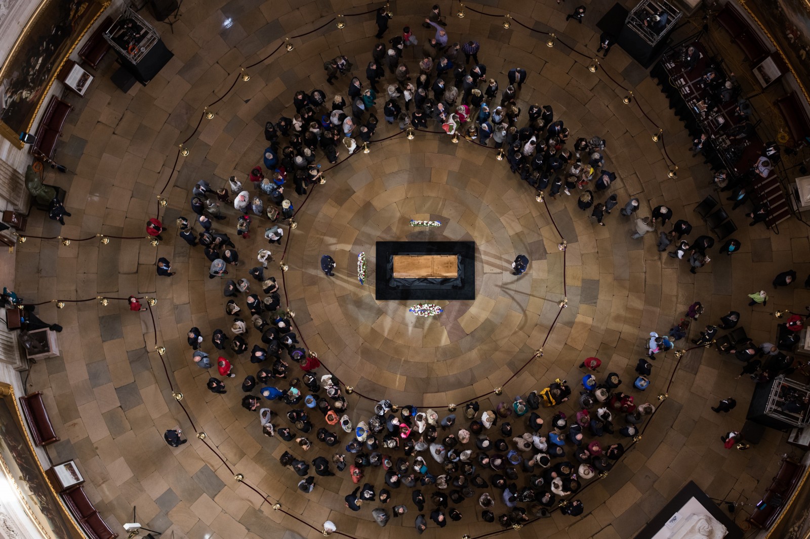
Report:
[[[810,102],[810,3],[807,0],[737,0],[773,42]]]

